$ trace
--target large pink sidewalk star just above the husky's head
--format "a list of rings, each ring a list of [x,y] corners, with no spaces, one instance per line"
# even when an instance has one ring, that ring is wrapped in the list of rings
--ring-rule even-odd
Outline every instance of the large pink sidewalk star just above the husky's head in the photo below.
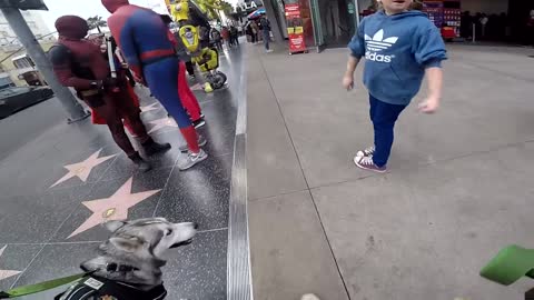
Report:
[[[86,230],[89,230],[106,221],[122,221],[128,219],[128,209],[147,198],[158,193],[161,190],[151,190],[131,193],[131,183],[134,178],[128,179],[111,197],[81,202],[92,211],[91,217],[87,219],[75,232],[67,239],[72,238]]]

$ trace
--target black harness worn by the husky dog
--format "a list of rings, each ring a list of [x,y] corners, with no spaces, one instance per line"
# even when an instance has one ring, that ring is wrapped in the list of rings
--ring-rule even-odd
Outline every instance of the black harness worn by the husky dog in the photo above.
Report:
[[[55,300],[162,300],[166,296],[164,284],[144,291],[125,282],[91,276],[72,284]]]

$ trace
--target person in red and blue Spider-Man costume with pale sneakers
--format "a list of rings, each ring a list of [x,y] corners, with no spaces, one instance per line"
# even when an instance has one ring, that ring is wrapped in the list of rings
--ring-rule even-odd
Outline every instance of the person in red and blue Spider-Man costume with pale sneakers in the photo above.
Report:
[[[187,161],[178,166],[180,170],[207,159],[178,94],[179,60],[161,17],[152,10],[131,6],[128,0],[102,0],[102,4],[112,13],[108,18],[109,30],[134,76],[149,87],[180,128],[189,149]]]

